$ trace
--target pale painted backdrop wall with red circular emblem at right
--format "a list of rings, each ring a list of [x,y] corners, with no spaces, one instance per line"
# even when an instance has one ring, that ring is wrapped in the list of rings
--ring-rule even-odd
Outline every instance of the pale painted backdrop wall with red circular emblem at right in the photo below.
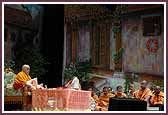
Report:
[[[143,36],[142,17],[125,18],[122,23],[122,45],[124,71],[164,74],[163,27],[160,36]]]

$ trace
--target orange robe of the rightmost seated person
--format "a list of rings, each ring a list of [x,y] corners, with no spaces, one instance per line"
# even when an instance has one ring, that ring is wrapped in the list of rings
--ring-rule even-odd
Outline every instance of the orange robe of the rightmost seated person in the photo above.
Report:
[[[164,93],[160,92],[158,95],[153,94],[150,102],[152,105],[164,104]]]

